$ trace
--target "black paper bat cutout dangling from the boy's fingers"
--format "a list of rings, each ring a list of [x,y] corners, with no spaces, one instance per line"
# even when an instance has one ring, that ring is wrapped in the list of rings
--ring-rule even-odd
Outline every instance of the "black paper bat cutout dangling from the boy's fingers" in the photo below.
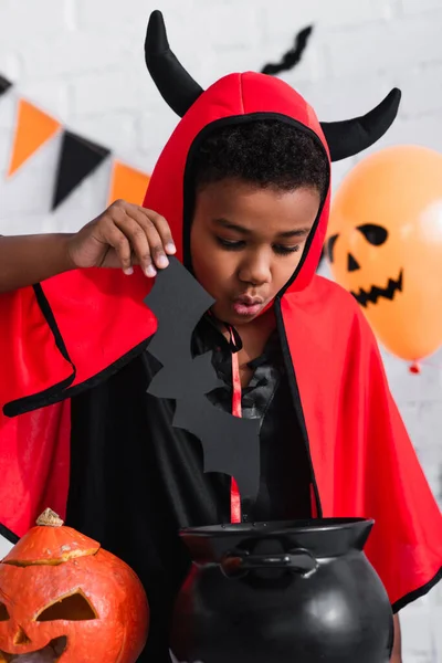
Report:
[[[176,259],[158,272],[145,304],[158,329],[147,350],[162,368],[148,393],[176,400],[172,425],[196,435],[203,450],[203,471],[228,474],[236,481],[241,502],[254,502],[260,486],[259,419],[241,419],[215,408],[206,397],[222,386],[211,354],[192,357],[193,330],[214,299]]]

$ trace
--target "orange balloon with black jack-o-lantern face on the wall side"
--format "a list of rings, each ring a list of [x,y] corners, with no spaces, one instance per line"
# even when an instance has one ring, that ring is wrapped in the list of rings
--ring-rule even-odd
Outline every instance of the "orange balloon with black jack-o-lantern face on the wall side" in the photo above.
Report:
[[[442,156],[383,149],[344,179],[326,255],[393,355],[417,361],[442,345]]]

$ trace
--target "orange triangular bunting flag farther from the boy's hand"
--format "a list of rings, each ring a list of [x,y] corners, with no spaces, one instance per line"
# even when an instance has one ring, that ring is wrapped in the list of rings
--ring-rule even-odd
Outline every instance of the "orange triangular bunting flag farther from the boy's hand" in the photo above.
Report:
[[[13,175],[60,128],[60,123],[24,99],[19,101],[8,176]]]

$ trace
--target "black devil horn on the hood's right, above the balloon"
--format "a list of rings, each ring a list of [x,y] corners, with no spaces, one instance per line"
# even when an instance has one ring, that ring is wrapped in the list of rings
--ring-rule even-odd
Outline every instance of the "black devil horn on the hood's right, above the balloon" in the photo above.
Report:
[[[373,145],[392,125],[399,109],[401,92],[394,87],[372,110],[343,122],[320,123],[332,161],[352,157]]]

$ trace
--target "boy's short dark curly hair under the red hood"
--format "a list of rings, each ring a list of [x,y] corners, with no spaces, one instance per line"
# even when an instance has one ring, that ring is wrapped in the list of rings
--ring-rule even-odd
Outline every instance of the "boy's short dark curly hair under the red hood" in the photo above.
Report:
[[[223,179],[291,191],[328,186],[325,150],[307,131],[276,120],[252,120],[214,129],[199,146],[193,166],[197,190]]]

